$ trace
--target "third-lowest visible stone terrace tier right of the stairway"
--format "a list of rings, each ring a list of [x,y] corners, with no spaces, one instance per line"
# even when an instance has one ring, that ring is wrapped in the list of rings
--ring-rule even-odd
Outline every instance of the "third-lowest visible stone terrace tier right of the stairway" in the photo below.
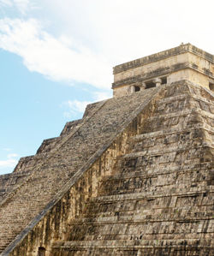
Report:
[[[170,218],[203,218],[213,217],[214,204],[207,204],[213,194],[195,197],[168,197],[160,199],[133,199],[110,203],[87,203],[83,212],[86,218],[102,220],[112,217],[112,221],[127,219],[170,219]],[[191,202],[192,199],[192,202]],[[162,205],[161,205],[162,204]],[[95,220],[93,220],[95,221]]]

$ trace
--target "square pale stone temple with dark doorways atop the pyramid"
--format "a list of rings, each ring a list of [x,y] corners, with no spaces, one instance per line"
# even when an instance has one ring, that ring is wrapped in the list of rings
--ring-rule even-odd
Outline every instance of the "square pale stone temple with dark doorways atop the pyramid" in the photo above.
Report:
[[[191,44],[122,63],[113,70],[114,97],[177,80],[189,80],[214,91],[214,56]]]

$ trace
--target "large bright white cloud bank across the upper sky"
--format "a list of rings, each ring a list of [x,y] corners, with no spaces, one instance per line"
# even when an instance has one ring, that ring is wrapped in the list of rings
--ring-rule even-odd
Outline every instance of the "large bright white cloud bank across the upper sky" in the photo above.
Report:
[[[33,2],[2,0],[4,5],[16,5],[20,11],[32,10]],[[113,65],[163,51],[182,41],[213,51],[211,0],[205,0],[205,4],[193,0],[155,4],[144,0],[36,2],[40,8],[36,15],[28,12],[23,15],[25,20],[0,22],[0,47],[21,56],[27,68],[51,80],[110,88]],[[34,18],[27,20],[28,16]],[[51,33],[36,16],[51,27]]]

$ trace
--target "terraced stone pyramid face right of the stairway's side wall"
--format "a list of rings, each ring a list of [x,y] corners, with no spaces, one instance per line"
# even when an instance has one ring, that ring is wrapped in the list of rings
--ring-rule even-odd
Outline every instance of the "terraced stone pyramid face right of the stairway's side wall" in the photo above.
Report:
[[[214,255],[213,126],[213,95],[165,86],[51,255]]]

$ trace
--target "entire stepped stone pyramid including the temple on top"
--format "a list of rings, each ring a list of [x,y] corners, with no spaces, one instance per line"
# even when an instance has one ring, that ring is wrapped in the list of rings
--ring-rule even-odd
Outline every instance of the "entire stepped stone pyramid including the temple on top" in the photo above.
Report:
[[[1,256],[214,255],[214,56],[123,63],[112,89],[0,176]]]

